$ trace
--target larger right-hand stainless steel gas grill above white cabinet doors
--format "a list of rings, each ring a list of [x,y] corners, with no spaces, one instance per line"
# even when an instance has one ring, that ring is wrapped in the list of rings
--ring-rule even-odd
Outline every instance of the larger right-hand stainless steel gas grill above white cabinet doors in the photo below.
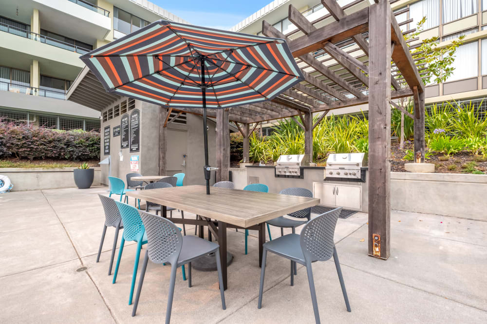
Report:
[[[338,153],[330,154],[326,160],[325,178],[333,179],[359,179],[365,182],[363,167],[365,153]]]

